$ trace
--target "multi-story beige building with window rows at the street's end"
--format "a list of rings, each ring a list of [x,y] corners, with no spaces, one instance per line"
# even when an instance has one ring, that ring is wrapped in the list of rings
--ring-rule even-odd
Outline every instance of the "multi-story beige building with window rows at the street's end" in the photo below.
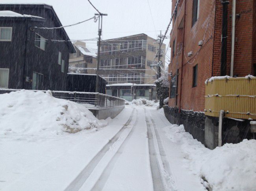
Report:
[[[165,50],[165,44],[161,49]],[[151,65],[157,63],[157,51],[157,41],[145,34],[101,42],[99,73],[108,81],[107,93],[127,100],[154,98],[157,74]],[[164,67],[165,56],[162,53],[161,61]]]

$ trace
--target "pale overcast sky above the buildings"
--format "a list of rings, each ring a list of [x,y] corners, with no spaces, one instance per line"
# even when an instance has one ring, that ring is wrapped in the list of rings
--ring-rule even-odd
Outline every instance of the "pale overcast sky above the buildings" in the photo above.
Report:
[[[80,22],[96,13],[87,0],[0,0],[0,2],[52,5],[63,25]],[[171,18],[171,0],[91,0],[91,2],[100,12],[108,14],[103,18],[102,39],[139,33],[157,38],[160,30],[164,33]],[[98,25],[93,20],[66,27],[65,30],[70,39],[98,37]],[[170,31],[167,34],[169,33]],[[169,44],[169,39],[165,40],[165,44]],[[96,42],[87,42],[87,46],[90,50],[94,50]]]

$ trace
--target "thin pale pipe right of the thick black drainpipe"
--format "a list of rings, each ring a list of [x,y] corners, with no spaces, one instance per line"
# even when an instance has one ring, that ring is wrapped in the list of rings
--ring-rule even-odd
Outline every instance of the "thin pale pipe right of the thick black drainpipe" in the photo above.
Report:
[[[233,77],[234,73],[234,53],[235,53],[235,27],[236,27],[236,0],[232,3],[232,43],[231,43],[231,63],[230,63],[230,76]]]

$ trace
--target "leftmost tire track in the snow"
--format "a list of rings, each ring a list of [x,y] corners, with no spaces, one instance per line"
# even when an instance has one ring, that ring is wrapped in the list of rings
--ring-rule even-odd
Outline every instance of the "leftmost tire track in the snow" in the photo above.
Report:
[[[122,128],[117,132],[111,140],[96,154],[93,159],[87,164],[87,166],[79,173],[78,176],[69,184],[69,186],[64,190],[64,191],[76,191],[79,190],[80,187],[83,185],[85,180],[91,175],[97,164],[100,162],[102,157],[106,154],[106,152],[109,150],[109,148],[119,139],[121,136],[122,132],[127,128],[127,126],[130,124],[132,121],[132,117],[134,116],[134,111],[133,109],[132,114],[130,115],[130,118],[122,126]]]

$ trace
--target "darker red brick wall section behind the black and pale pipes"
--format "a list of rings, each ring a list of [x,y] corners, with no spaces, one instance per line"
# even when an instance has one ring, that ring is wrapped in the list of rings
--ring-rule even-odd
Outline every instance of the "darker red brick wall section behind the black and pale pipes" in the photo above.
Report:
[[[255,0],[254,0],[255,1]],[[216,1],[215,35],[213,51],[213,76],[220,75],[221,67],[221,33],[222,33],[222,7],[220,1]],[[253,0],[237,0],[236,14],[240,18],[236,19],[235,31],[235,56],[234,75],[246,76],[252,74],[252,23],[253,23]],[[227,73],[230,75],[231,61],[231,38],[232,38],[232,1],[228,5],[228,46],[227,46]]]

